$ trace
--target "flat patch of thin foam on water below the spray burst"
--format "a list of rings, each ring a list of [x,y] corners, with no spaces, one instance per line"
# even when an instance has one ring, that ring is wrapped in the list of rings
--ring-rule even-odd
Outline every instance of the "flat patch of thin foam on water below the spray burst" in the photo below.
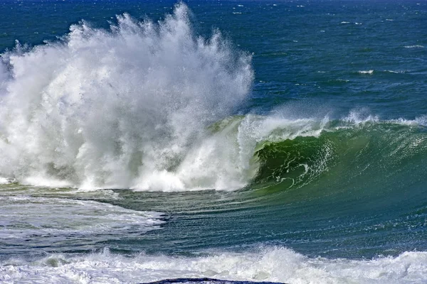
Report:
[[[74,244],[140,234],[158,229],[162,213],[140,212],[90,200],[4,196],[0,197],[0,241],[9,246],[55,246],[73,239]],[[71,217],[71,218],[70,218]]]

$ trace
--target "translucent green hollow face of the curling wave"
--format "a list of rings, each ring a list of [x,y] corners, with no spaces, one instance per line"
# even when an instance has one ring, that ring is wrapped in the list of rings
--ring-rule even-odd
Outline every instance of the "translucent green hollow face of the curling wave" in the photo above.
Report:
[[[312,182],[374,186],[425,169],[427,133],[419,126],[389,122],[342,127],[342,121],[332,121],[318,137],[265,141],[254,155],[260,163],[253,179],[258,187],[285,190]]]

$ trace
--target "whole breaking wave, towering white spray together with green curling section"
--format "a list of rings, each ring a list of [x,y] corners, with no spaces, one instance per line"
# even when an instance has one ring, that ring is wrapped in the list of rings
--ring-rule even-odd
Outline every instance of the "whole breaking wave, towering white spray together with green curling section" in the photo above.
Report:
[[[426,148],[424,116],[233,115],[252,82],[251,56],[218,31],[196,36],[184,4],[159,23],[124,14],[109,30],[81,22],[58,42],[17,45],[0,64],[0,183],[290,188],[360,158],[361,149],[357,167],[393,165]]]

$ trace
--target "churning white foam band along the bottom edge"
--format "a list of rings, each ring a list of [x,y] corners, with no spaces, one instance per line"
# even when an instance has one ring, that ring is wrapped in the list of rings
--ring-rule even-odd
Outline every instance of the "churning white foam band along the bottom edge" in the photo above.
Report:
[[[284,283],[426,283],[427,253],[372,260],[308,258],[290,249],[214,253],[205,257],[54,254],[0,266],[2,283],[142,283],[164,278],[219,278]]]

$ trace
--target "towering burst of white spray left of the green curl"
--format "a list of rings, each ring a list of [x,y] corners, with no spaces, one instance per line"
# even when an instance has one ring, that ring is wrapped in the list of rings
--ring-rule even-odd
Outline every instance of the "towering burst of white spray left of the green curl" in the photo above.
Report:
[[[251,88],[251,56],[194,35],[184,4],[163,21],[86,22],[0,64],[0,175],[32,185],[176,190],[172,173],[206,126]],[[218,178],[204,182],[215,187]]]

